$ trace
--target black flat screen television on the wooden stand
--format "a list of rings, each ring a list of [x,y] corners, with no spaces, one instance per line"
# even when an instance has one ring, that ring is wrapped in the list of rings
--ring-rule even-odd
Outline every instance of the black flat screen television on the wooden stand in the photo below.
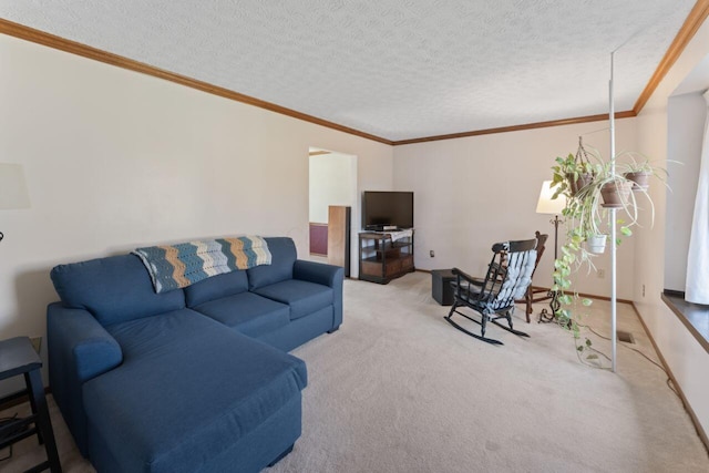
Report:
[[[379,232],[384,227],[413,228],[413,193],[364,191],[362,227]]]

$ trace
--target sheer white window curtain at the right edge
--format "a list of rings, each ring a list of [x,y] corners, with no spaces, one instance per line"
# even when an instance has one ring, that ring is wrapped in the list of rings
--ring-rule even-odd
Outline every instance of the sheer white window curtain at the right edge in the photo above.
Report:
[[[703,97],[709,109],[709,91],[703,93]],[[685,299],[688,302],[709,305],[709,110],[701,145],[699,183],[687,255]]]

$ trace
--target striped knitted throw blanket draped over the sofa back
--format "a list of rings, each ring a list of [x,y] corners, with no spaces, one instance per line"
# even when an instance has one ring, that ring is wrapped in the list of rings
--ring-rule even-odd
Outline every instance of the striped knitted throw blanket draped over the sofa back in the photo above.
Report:
[[[157,294],[181,289],[237,269],[270,265],[271,259],[268,244],[259,236],[151,246],[132,253],[147,268]]]

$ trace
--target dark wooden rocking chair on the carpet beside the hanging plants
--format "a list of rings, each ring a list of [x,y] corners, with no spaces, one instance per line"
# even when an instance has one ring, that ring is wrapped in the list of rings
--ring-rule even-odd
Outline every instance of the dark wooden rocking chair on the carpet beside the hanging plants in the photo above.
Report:
[[[458,268],[453,268],[456,281],[453,285],[453,307],[445,317],[453,327],[487,343],[504,345],[500,340],[485,337],[487,321],[514,335],[528,335],[514,330],[512,313],[515,299],[522,299],[532,282],[536,266],[536,239],[505,241],[493,245],[493,257],[484,279],[474,278]],[[469,308],[481,315],[481,320],[461,312],[459,308]],[[454,313],[465,317],[481,326],[481,335],[473,333],[452,320]],[[508,328],[499,323],[505,318]]]

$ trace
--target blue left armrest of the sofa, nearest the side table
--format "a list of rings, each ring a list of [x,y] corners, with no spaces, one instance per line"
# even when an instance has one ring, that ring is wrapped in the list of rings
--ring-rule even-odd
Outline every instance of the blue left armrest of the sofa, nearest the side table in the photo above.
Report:
[[[52,394],[86,454],[86,420],[82,385],[123,361],[119,342],[86,310],[59,302],[47,308],[47,346]]]

